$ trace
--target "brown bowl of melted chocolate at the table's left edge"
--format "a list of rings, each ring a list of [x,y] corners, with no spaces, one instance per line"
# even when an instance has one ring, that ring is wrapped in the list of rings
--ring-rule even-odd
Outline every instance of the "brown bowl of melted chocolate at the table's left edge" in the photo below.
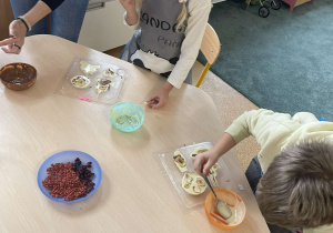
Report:
[[[8,89],[23,91],[34,84],[37,70],[31,64],[10,63],[1,68],[0,79]]]

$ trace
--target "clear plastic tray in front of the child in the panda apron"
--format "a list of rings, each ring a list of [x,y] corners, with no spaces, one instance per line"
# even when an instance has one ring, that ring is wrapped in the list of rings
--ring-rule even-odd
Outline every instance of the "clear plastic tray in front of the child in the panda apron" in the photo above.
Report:
[[[85,61],[89,64],[98,64],[100,68],[92,74],[85,74],[81,70],[81,61]],[[107,69],[113,69],[115,71],[115,77],[111,78],[103,74],[103,71]],[[71,78],[75,75],[83,75],[90,79],[91,83],[88,88],[80,89],[75,88],[71,83]],[[83,97],[87,99],[90,99],[90,101],[105,103],[105,104],[114,104],[120,95],[121,89],[125,81],[127,72],[124,69],[119,68],[113,64],[103,63],[99,61],[93,61],[90,59],[82,59],[82,58],[75,58],[72,62],[72,65],[70,67],[68,73],[65,74],[64,79],[61,81],[60,85],[58,87],[58,90],[56,91],[57,94],[64,94],[73,98]],[[107,91],[98,93],[95,89],[97,79],[108,79],[111,80],[114,84]]]

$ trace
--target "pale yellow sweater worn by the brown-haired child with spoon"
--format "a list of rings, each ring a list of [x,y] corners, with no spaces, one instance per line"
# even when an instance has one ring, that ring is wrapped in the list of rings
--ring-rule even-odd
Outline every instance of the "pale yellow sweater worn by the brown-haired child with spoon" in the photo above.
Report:
[[[319,121],[312,113],[299,112],[291,116],[260,109],[245,112],[225,130],[236,143],[253,135],[261,146],[259,162],[263,173],[273,159],[287,145],[303,139],[324,139],[333,143],[333,122]],[[305,229],[303,233],[333,232],[333,224],[316,229]]]

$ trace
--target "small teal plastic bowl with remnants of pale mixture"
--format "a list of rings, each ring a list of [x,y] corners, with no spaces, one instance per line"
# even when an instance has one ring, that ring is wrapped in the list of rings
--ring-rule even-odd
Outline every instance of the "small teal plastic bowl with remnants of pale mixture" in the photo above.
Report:
[[[112,125],[122,132],[133,132],[138,130],[145,114],[141,107],[131,102],[119,102],[111,107],[110,121]]]

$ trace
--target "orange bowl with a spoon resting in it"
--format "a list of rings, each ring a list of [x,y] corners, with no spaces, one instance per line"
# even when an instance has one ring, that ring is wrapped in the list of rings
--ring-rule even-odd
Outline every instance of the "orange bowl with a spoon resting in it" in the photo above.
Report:
[[[243,200],[234,192],[225,189],[215,189],[218,199],[223,200],[232,210],[233,216],[228,221],[219,221],[211,212],[215,211],[215,196],[210,192],[204,201],[204,212],[209,221],[219,229],[234,229],[245,219],[246,207]],[[220,216],[221,217],[221,216]],[[225,223],[224,223],[225,222]]]

